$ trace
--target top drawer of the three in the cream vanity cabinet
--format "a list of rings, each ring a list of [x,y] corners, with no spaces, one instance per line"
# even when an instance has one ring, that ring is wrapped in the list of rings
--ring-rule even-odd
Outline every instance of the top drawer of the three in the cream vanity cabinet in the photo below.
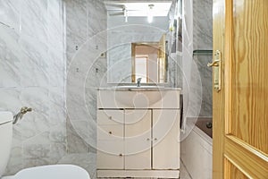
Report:
[[[123,110],[97,110],[97,124],[118,125],[124,123]]]

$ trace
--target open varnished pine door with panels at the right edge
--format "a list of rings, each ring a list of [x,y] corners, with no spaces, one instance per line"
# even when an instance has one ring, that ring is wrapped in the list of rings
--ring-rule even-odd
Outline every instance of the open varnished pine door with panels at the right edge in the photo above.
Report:
[[[268,1],[214,0],[214,179],[268,178]]]

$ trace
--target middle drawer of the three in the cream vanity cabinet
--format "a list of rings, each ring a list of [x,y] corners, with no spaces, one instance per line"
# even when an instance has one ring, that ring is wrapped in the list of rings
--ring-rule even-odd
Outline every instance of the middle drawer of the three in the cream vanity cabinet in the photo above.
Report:
[[[123,138],[123,125],[98,125],[97,140],[121,140]]]

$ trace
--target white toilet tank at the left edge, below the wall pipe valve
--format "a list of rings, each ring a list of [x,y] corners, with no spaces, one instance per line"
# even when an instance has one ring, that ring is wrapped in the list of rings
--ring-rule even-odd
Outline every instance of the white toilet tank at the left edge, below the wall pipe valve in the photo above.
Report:
[[[0,111],[0,178],[10,157],[13,139],[13,114]]]

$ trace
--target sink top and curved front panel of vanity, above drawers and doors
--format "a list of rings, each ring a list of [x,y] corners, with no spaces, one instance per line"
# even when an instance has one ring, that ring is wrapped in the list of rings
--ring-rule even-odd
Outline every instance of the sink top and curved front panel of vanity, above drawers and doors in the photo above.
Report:
[[[97,92],[98,108],[176,108],[180,107],[180,89],[124,86],[103,88]]]

